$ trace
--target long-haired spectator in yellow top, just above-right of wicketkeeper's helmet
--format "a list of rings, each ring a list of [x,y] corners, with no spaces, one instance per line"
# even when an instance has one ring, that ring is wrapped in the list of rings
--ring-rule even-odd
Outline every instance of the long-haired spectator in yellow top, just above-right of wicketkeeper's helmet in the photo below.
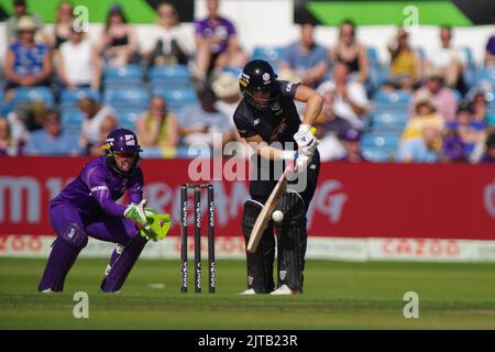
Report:
[[[136,122],[136,132],[140,145],[143,147],[175,148],[177,146],[177,121],[168,111],[165,99],[158,96],[151,99],[147,111]]]

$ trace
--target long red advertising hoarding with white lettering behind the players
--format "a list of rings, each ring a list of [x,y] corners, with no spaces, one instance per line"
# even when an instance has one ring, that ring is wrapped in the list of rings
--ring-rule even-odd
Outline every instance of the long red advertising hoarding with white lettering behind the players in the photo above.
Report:
[[[0,234],[53,233],[48,200],[86,162],[3,158]],[[170,234],[178,234],[180,185],[194,182],[190,161],[144,160],[141,165],[148,204],[172,215]],[[221,172],[216,176],[217,233],[241,235],[248,182],[226,180]],[[322,164],[308,230],[316,237],[495,240],[495,166]]]

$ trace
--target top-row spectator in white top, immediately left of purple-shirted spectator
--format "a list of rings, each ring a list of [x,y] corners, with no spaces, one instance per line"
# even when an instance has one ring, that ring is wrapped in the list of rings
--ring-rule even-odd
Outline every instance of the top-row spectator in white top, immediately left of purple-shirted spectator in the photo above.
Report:
[[[185,40],[187,34],[179,24],[177,10],[173,4],[163,2],[157,12],[158,23],[150,31],[152,37],[142,52],[147,66],[187,65],[193,50]]]

